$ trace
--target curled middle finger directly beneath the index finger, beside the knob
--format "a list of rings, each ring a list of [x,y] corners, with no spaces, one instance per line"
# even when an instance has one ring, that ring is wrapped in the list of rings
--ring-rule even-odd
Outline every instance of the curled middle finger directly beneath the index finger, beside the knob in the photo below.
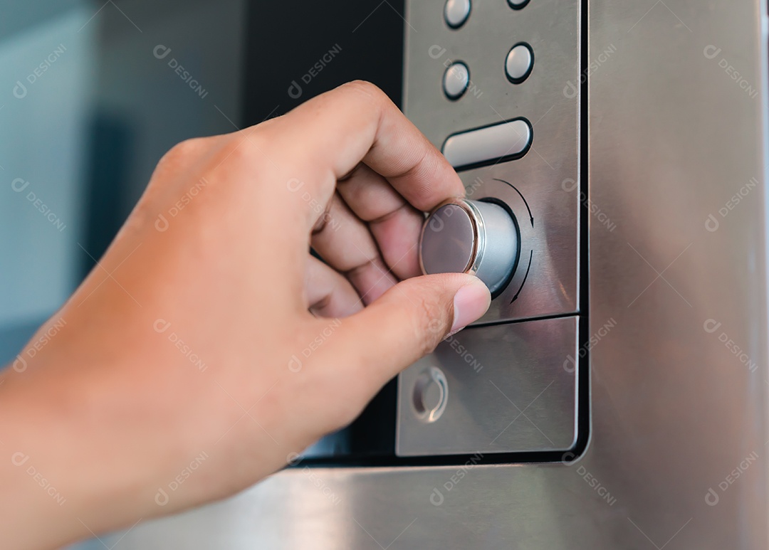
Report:
[[[337,184],[337,191],[368,228],[384,263],[399,279],[421,274],[417,244],[424,215],[380,174],[358,164]]]

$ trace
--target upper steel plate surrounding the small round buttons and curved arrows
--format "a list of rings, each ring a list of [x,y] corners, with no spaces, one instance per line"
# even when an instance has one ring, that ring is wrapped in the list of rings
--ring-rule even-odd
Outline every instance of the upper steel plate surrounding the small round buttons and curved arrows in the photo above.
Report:
[[[509,201],[521,226],[518,270],[480,323],[577,313],[580,201],[572,182],[580,181],[580,94],[577,88],[564,93],[564,86],[580,78],[579,2],[538,0],[515,10],[500,0],[474,0],[458,29],[445,24],[442,9],[438,0],[407,2],[414,31],[406,38],[406,115],[439,148],[452,134],[521,117],[533,133],[518,160],[460,174],[468,198]],[[520,42],[531,45],[534,69],[513,84],[505,62]],[[462,98],[451,101],[441,79],[455,61],[468,66],[471,81]]]

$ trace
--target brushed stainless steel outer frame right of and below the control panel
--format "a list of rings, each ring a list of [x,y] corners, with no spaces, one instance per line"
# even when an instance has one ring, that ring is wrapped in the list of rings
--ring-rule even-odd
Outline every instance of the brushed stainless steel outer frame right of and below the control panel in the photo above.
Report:
[[[591,214],[589,332],[616,326],[582,459],[300,466],[115,548],[769,546],[766,2],[589,7],[590,200],[616,224]]]

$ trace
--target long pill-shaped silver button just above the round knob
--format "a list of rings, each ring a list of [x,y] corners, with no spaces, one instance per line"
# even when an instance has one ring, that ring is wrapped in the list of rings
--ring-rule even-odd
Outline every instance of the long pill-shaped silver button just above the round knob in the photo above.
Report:
[[[451,134],[441,151],[456,169],[512,161],[531,146],[531,125],[525,118]]]

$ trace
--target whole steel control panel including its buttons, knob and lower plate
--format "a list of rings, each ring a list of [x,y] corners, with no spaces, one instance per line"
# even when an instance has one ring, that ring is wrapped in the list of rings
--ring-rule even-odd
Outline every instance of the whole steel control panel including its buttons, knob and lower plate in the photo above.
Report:
[[[406,2],[404,112],[466,189],[426,220],[421,267],[475,273],[492,303],[399,376],[398,456],[555,456],[581,435],[581,16]]]

